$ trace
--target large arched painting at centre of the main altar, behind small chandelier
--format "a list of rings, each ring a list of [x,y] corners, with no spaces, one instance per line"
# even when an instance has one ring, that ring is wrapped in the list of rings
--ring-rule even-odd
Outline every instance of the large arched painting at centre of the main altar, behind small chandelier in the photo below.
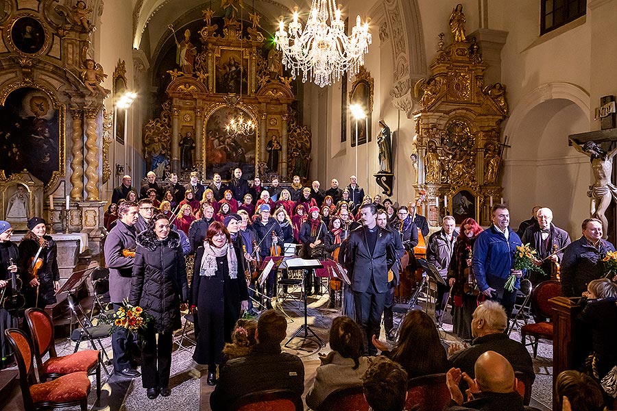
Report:
[[[213,112],[206,122],[206,144],[204,147],[205,177],[213,178],[219,173],[223,179],[230,179],[236,167],[242,169],[242,177],[253,179],[257,164],[257,132],[252,135],[230,135],[226,126],[242,114],[245,121],[252,116],[238,108],[222,107]]]

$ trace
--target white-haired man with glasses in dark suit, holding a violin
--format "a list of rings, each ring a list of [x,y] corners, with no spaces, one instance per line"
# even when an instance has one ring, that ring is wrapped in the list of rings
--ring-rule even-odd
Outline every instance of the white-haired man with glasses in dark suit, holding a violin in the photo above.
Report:
[[[529,243],[537,251],[537,259],[540,260],[537,265],[544,271],[544,275],[536,271],[527,271],[533,286],[551,279],[555,263],[561,262],[564,258],[564,247],[570,244],[568,233],[553,224],[553,211],[550,208],[540,208],[535,212],[535,217],[537,224],[527,227],[521,238],[523,244]]]

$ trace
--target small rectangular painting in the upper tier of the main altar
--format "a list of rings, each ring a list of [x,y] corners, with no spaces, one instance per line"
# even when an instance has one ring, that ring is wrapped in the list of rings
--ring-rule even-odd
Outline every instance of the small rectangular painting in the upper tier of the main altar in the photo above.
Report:
[[[226,49],[221,47],[215,58],[215,92],[247,95],[248,58],[242,56],[242,49]]]

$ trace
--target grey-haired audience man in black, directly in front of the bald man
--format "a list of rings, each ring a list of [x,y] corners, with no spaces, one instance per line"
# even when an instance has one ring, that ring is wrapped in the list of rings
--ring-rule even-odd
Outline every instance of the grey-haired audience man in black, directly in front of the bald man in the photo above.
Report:
[[[450,362],[452,366],[474,377],[474,364],[486,351],[496,351],[504,356],[514,371],[520,371],[535,379],[531,354],[518,341],[511,340],[504,334],[508,319],[505,310],[495,301],[485,301],[478,306],[472,316],[472,336],[474,340],[470,347],[461,349],[457,343],[450,345]]]

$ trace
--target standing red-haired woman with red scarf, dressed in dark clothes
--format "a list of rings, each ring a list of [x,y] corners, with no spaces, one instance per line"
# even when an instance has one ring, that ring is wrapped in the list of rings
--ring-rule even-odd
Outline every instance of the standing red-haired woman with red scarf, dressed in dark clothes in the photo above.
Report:
[[[452,287],[454,307],[452,308],[452,331],[463,338],[471,340],[471,320],[478,306],[481,293],[474,295],[474,273],[472,272],[472,249],[482,227],[474,219],[465,219],[461,223],[461,234],[455,242],[454,253],[448,270],[448,284]],[[475,290],[476,291],[476,290]]]

